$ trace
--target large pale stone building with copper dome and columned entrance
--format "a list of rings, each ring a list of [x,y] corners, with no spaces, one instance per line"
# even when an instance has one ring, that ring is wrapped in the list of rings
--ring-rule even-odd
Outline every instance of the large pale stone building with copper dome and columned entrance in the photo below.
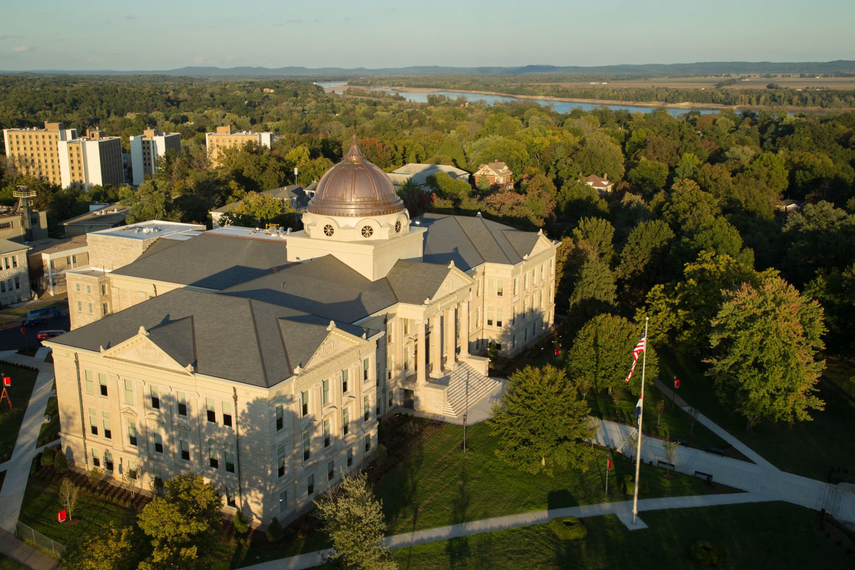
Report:
[[[363,465],[394,407],[458,416],[551,330],[557,243],[482,217],[410,220],[356,143],[304,230],[149,222],[88,235],[53,348],[62,448],[143,489],[196,472],[290,519]]]

